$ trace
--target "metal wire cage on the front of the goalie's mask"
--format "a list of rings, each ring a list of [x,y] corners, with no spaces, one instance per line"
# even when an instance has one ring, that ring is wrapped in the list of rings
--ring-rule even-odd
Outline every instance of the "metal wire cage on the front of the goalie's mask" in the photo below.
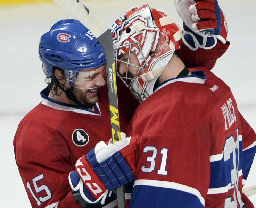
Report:
[[[135,47],[135,48],[137,48],[137,49],[139,49],[139,52],[142,54],[142,56],[143,56],[143,61],[142,61],[142,66],[136,66],[136,65],[134,65],[134,64],[131,64],[131,63],[129,63],[130,62],[130,54],[131,54],[131,48],[132,48],[132,45],[133,44],[137,44],[137,47]],[[142,49],[141,49],[141,47],[140,47],[140,45],[142,45],[139,41],[135,41],[135,42],[133,42],[133,43],[127,43],[127,44],[125,44],[125,45],[122,45],[122,46],[119,46],[119,47],[117,47],[116,49],[115,49],[115,51],[114,51],[114,53],[116,54],[116,56],[115,56],[115,70],[116,70],[116,76],[118,76],[118,77],[120,77],[121,78],[121,80],[123,81],[123,83],[127,86],[127,87],[131,87],[131,85],[132,85],[132,83],[135,81],[135,79],[138,77],[138,75],[139,75],[139,73],[144,69],[144,67],[147,65],[147,59],[146,59],[146,57],[144,56],[144,54],[143,54],[143,52],[142,52]],[[128,60],[127,60],[127,62],[126,61],[122,61],[122,60],[120,60],[118,57],[120,57],[121,56],[121,58],[122,58],[122,55],[118,55],[118,51],[120,50],[120,49],[122,49],[122,48],[126,48],[127,49],[127,47],[129,47],[129,52],[128,52]],[[138,53],[139,53],[138,52]],[[137,54],[138,54],[137,53]],[[124,53],[123,53],[124,54]],[[137,54],[136,54],[136,56],[137,56]],[[138,58],[138,57],[137,57]],[[118,72],[118,67],[119,67],[119,63],[125,63],[126,65],[127,65],[127,67],[126,67],[126,73],[124,74],[124,75],[121,75],[121,74],[119,74],[119,72]],[[140,61],[139,61],[140,62]],[[137,68],[139,68],[138,69],[138,72],[136,73],[136,75],[133,77],[133,78],[130,78],[130,77],[128,77],[128,74],[129,74],[129,66],[133,66],[133,67],[137,67]]]

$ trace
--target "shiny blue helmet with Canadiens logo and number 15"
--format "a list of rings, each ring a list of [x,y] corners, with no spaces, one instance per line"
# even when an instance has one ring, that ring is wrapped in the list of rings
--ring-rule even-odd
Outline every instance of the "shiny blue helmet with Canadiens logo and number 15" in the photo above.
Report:
[[[42,35],[39,57],[47,77],[52,75],[53,67],[64,70],[67,77],[72,77],[71,72],[100,67],[106,62],[97,38],[75,19],[60,20]],[[75,80],[71,78],[68,81]]]

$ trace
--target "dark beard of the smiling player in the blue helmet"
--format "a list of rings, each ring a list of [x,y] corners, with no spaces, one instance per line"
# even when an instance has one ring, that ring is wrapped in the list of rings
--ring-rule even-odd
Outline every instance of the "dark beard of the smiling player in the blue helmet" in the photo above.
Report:
[[[90,92],[90,90],[82,90],[76,87],[71,87],[65,90],[68,99],[70,99],[80,107],[90,109],[94,106],[95,103],[98,102],[99,96],[95,95],[93,97],[89,97],[87,95],[87,92]]]

